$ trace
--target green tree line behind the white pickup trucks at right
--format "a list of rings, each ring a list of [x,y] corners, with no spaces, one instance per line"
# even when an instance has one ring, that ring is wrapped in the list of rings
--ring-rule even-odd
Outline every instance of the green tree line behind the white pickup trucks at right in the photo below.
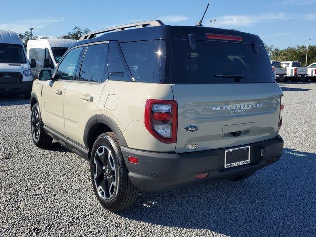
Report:
[[[305,65],[306,46],[297,45],[296,47],[288,47],[279,49],[273,45],[265,45],[271,60],[277,61],[299,61]],[[307,55],[307,66],[316,62],[316,45],[309,45]]]

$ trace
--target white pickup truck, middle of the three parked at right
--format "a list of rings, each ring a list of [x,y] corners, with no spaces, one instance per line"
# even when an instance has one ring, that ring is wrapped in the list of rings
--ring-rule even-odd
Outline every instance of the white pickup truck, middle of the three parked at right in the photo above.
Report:
[[[286,68],[287,77],[290,80],[300,80],[302,82],[308,81],[307,67],[302,67],[298,61],[284,61],[281,62],[282,67]]]

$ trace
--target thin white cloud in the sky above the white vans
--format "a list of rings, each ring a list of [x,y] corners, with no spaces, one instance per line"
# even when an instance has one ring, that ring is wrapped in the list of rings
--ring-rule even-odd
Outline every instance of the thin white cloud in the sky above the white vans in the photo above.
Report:
[[[25,31],[28,31],[29,28],[34,28],[35,32],[39,29],[43,29],[49,25],[52,25],[57,22],[64,21],[65,18],[54,18],[54,17],[47,17],[47,18],[40,18],[40,19],[34,19],[34,20],[20,20],[20,21],[14,21],[9,23],[0,23],[0,29],[11,31],[16,31],[18,33],[24,33]]]

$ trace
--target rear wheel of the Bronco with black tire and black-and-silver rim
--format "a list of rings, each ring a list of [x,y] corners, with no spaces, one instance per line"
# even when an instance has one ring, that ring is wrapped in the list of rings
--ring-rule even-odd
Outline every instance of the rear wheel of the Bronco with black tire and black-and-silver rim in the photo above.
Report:
[[[124,157],[113,132],[103,133],[95,140],[90,173],[94,193],[104,208],[118,212],[134,205],[138,189],[128,177]]]

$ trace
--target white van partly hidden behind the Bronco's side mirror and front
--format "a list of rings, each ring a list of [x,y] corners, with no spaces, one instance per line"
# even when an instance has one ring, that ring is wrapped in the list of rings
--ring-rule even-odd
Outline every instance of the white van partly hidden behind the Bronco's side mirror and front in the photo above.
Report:
[[[33,79],[37,79],[43,69],[50,69],[53,72],[64,53],[75,42],[77,40],[61,38],[29,40],[26,52],[31,63]]]

